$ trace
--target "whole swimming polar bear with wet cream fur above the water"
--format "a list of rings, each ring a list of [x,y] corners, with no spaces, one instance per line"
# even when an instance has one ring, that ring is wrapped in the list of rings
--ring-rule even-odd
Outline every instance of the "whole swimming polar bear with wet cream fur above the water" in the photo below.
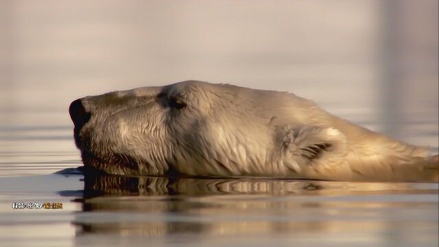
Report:
[[[85,167],[130,176],[437,181],[438,156],[293,93],[185,81],[76,99]]]

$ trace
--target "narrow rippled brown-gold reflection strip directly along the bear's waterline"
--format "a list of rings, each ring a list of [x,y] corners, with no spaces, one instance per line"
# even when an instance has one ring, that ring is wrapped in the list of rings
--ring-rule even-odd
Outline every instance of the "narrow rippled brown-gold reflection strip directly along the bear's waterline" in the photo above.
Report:
[[[84,198],[97,196],[324,195],[375,191],[410,193],[420,183],[351,183],[271,178],[174,178],[157,176],[85,176]],[[427,190],[429,191],[429,190]]]

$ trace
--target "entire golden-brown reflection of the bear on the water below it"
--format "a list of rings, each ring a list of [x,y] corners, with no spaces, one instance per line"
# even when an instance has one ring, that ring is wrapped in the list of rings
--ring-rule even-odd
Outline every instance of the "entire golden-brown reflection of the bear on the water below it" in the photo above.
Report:
[[[171,245],[222,246],[224,237],[260,246],[273,237],[309,246],[437,242],[436,219],[426,217],[438,213],[437,184],[121,176],[84,181],[77,244],[101,241],[96,236],[102,234],[117,242],[130,237],[130,243],[141,243],[137,237],[148,236],[154,244]]]

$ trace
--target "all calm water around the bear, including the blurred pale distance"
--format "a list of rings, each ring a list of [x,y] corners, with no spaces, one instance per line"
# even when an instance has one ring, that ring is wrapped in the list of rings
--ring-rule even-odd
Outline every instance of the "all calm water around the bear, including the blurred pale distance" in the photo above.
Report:
[[[85,95],[206,80],[290,91],[438,153],[437,9],[0,1],[0,246],[438,246],[438,184],[84,178],[67,114]]]

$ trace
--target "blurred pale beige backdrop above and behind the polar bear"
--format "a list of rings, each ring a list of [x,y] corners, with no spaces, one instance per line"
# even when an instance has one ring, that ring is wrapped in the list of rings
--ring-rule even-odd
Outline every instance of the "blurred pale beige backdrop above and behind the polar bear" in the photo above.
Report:
[[[190,79],[437,147],[438,1],[0,1],[2,130],[70,129],[73,99]]]

